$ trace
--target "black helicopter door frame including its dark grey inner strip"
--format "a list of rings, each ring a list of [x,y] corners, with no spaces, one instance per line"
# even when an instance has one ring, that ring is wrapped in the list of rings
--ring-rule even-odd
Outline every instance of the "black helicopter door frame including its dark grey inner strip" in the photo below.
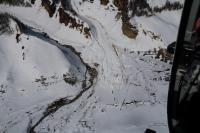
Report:
[[[181,91],[180,84],[188,65],[190,65],[190,62],[186,62],[184,56],[186,51],[194,49],[192,33],[199,5],[200,0],[185,0],[182,12],[168,92],[167,114],[170,133],[177,133],[175,127],[178,124],[177,113]]]

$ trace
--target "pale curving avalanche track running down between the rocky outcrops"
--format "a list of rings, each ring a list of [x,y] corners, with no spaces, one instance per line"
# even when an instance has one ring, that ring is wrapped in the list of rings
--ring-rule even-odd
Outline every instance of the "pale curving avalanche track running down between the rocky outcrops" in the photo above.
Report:
[[[100,61],[101,78],[99,84],[105,88],[120,88],[124,83],[124,68],[121,64],[117,52],[115,51],[114,44],[111,42],[109,35],[104,26],[93,18],[82,14],[76,6],[75,1],[71,0],[73,9],[77,12],[78,17],[86,22],[92,33],[93,45],[100,47]],[[95,54],[95,53],[94,53]]]

